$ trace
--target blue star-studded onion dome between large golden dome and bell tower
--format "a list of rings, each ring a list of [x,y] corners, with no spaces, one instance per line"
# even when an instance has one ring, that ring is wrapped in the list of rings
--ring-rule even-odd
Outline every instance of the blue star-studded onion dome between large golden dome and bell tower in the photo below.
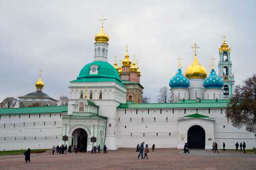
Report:
[[[204,80],[205,88],[219,88],[221,89],[224,85],[222,78],[220,78],[214,68],[211,69],[210,75]]]

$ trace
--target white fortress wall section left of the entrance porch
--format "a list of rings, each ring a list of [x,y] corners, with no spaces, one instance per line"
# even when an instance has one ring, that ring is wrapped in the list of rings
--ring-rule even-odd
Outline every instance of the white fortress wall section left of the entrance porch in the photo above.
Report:
[[[61,132],[60,113],[1,115],[0,151],[49,149],[60,143]]]

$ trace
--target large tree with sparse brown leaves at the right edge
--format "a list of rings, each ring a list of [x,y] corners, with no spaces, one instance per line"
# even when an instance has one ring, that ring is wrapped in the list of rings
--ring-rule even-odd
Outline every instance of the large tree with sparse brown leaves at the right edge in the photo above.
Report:
[[[234,127],[245,127],[246,131],[256,132],[256,75],[236,86],[233,98],[228,104],[226,115]]]

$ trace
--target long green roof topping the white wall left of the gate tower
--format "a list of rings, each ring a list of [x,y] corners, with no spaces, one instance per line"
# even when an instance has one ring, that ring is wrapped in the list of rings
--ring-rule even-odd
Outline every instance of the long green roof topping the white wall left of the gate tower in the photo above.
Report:
[[[68,106],[19,107],[0,109],[0,114],[33,114],[33,113],[63,113],[68,112]]]

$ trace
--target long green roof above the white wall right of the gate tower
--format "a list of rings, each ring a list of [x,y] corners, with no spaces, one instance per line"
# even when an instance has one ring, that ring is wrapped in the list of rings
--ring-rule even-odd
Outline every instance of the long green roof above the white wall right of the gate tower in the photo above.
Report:
[[[117,109],[225,108],[229,100],[181,100],[175,103],[120,104]]]

